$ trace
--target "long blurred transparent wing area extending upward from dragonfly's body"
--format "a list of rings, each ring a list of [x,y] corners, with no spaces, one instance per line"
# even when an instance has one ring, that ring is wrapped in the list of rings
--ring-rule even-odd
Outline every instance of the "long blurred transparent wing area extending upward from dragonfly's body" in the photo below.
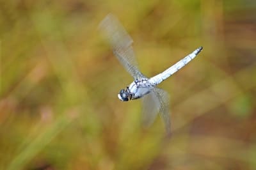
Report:
[[[108,38],[113,53],[120,63],[125,67],[134,79],[140,79],[144,75],[138,69],[134,51],[132,49],[132,38],[125,31],[115,16],[109,14],[99,24],[99,29]]]

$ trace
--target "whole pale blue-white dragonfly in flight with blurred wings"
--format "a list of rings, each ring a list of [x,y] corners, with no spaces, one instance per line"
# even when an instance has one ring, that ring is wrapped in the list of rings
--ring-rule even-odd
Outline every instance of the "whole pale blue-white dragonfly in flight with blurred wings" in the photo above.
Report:
[[[114,15],[108,14],[100,22],[99,29],[111,45],[113,54],[134,79],[129,86],[120,90],[117,95],[118,98],[123,102],[141,98],[143,125],[145,127],[152,125],[159,113],[164,122],[166,133],[170,134],[169,95],[163,89],[157,88],[157,85],[188,64],[199,54],[203,47],[194,50],[164,72],[148,78],[140,72],[132,48],[133,40],[119,20]]]

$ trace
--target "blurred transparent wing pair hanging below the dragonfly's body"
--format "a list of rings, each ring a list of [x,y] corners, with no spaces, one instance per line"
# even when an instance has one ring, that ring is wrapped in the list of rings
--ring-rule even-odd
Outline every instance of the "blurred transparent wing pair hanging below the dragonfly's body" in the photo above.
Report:
[[[154,88],[148,95],[142,98],[143,101],[143,113],[142,121],[143,125],[151,125],[156,114],[159,112],[166,129],[166,133],[170,134],[170,115],[169,115],[169,95],[166,91],[160,88]]]

